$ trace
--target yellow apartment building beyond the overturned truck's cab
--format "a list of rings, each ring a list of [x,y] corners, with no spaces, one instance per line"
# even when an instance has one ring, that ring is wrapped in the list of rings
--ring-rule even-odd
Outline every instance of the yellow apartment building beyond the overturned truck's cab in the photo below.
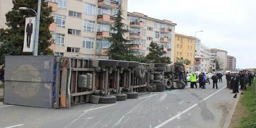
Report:
[[[191,64],[186,65],[186,70],[193,71],[195,60],[195,37],[176,33],[174,47],[175,62],[177,61],[177,58],[181,57],[183,59],[189,59]]]

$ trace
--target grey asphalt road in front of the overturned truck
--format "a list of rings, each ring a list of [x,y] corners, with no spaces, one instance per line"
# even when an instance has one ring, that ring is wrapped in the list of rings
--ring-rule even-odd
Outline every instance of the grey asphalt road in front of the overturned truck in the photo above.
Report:
[[[222,128],[235,101],[219,89],[152,92],[116,104],[81,104],[46,109],[0,103],[0,128]]]

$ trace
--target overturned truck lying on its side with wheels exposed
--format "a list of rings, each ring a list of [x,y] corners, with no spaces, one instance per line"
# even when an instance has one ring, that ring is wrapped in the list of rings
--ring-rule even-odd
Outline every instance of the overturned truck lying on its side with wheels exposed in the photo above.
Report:
[[[139,93],[184,89],[184,65],[60,56],[6,56],[4,103],[43,108],[115,103]]]

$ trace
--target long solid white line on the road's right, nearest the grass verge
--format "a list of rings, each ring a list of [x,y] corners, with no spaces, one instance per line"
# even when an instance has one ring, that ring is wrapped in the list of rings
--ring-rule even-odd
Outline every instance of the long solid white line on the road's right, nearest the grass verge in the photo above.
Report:
[[[222,89],[225,89],[227,86],[223,87]],[[215,93],[209,95],[208,97],[204,98],[203,100],[201,100],[199,103],[207,100],[208,98],[210,98],[211,96],[213,96],[214,94],[218,93],[219,91],[221,91],[222,89],[219,89],[218,91],[216,91]],[[162,126],[164,126],[165,124],[169,123],[170,121],[176,119],[177,117],[179,117],[180,115],[186,113],[187,111],[189,111],[190,109],[194,108],[195,106],[197,106],[198,103],[194,104],[193,106],[187,108],[186,110],[182,111],[181,113],[178,113],[177,115],[175,115],[174,117],[171,117],[170,119],[164,121],[162,124],[159,124],[158,126],[155,126],[154,128],[160,128]]]

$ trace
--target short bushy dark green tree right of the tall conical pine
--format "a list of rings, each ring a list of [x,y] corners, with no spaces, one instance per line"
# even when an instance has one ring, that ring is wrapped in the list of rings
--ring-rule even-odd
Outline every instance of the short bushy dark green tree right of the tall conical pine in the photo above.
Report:
[[[165,63],[170,64],[171,58],[170,57],[163,57],[166,54],[163,46],[154,43],[153,41],[150,43],[150,53],[146,56],[146,63]]]

